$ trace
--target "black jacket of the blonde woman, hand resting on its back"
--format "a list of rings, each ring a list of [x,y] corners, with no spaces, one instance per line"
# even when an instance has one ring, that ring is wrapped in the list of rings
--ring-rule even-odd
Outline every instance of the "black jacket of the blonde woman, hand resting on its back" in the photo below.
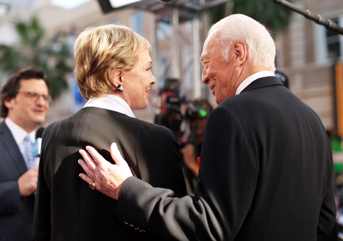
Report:
[[[119,222],[117,201],[79,177],[84,171],[78,151],[91,145],[110,160],[112,142],[135,177],[186,194],[178,144],[170,130],[115,111],[82,108],[43,133],[34,214],[37,240],[161,240]]]

